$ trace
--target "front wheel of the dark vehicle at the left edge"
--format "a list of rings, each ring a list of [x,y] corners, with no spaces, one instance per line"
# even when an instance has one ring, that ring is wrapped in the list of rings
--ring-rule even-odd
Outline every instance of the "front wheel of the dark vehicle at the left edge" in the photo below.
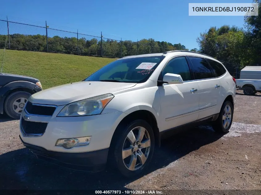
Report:
[[[24,104],[27,102],[30,95],[31,94],[26,91],[15,91],[8,95],[4,103],[6,114],[11,118],[20,119]]]

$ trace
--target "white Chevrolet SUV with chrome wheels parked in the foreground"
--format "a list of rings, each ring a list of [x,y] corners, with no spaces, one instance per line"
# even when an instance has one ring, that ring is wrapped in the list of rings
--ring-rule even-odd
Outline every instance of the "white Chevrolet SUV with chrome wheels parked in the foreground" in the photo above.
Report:
[[[199,121],[228,132],[235,79],[216,59],[191,51],[127,56],[81,82],[33,94],[20,138],[38,157],[126,177],[142,173],[166,132]],[[165,134],[166,135],[166,134]]]

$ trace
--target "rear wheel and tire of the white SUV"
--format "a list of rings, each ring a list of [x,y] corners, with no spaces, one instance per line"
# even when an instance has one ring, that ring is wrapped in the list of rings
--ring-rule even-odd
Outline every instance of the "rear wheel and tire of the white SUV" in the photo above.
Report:
[[[228,107],[230,108],[230,112],[225,113],[225,108],[227,109]],[[234,114],[234,109],[232,103],[230,101],[225,101],[221,107],[217,120],[213,121],[212,128],[216,132],[227,133],[233,121],[233,114]],[[225,121],[227,122],[226,124]]]

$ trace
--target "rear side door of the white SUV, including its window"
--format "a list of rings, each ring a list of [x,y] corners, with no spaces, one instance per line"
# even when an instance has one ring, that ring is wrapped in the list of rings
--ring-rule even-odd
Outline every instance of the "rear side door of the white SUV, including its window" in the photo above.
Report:
[[[188,56],[195,81],[199,85],[198,119],[217,114],[220,82],[204,58]]]

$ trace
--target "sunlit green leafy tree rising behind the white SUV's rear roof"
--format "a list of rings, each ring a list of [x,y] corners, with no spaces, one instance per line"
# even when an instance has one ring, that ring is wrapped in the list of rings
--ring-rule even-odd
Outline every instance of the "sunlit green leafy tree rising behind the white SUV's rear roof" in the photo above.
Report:
[[[208,32],[200,33],[197,42],[200,52],[221,60],[232,75],[249,62],[245,31],[236,26],[211,27]]]

